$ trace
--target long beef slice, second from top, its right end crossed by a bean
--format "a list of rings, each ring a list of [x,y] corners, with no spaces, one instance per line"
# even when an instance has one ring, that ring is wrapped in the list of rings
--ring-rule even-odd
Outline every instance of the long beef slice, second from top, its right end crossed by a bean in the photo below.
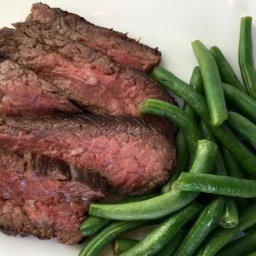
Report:
[[[174,99],[145,73],[120,67],[106,55],[83,44],[57,40],[36,22],[35,26],[17,26],[0,32],[2,58],[17,61],[55,85],[79,106],[92,113],[138,116],[137,105],[150,98],[166,102]],[[146,118],[148,119],[148,117]],[[157,117],[154,125],[173,134],[174,125]]]

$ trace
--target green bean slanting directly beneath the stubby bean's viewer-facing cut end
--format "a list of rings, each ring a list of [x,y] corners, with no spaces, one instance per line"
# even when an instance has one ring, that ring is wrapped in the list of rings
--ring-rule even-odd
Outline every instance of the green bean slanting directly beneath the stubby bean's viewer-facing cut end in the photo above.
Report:
[[[213,234],[208,236],[206,242],[201,246],[197,256],[213,256],[224,247],[229,241],[232,241],[239,233],[256,224],[256,205],[249,207],[241,214],[241,222],[234,229],[219,228]]]

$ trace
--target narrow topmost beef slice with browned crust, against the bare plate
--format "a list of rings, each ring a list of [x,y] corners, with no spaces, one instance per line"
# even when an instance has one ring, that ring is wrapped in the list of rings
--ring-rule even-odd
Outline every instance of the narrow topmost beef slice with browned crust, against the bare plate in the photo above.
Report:
[[[128,67],[136,67],[148,72],[160,62],[158,49],[140,44],[128,38],[127,34],[95,26],[79,15],[61,9],[51,9],[44,3],[32,5],[31,14],[26,21],[29,20],[47,24],[55,34],[61,33],[73,41],[79,41]]]

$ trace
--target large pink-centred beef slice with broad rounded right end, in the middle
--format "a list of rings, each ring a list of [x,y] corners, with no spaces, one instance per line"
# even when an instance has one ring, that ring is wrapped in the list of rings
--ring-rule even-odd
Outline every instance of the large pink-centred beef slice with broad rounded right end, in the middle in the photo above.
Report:
[[[96,170],[119,192],[139,195],[165,183],[175,162],[173,139],[142,120],[103,115],[1,119],[0,143]]]

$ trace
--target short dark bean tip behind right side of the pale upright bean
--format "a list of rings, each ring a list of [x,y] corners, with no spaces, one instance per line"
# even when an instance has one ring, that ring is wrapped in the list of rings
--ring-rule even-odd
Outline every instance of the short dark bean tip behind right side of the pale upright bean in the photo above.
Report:
[[[218,65],[218,71],[222,81],[226,84],[230,84],[237,89],[244,91],[243,85],[240,83],[239,79],[236,77],[236,73],[230,66],[230,63],[226,60],[223,53],[217,46],[212,46],[210,49],[215,61]]]

